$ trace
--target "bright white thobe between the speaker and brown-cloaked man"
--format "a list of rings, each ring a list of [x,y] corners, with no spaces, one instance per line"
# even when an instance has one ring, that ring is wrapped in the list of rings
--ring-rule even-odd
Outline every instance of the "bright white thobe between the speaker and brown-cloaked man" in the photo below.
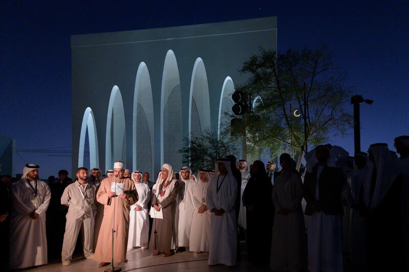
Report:
[[[128,250],[132,250],[134,246],[148,246],[149,238],[148,203],[150,189],[146,183],[135,183],[135,188],[137,188],[139,199],[130,207]],[[142,207],[142,210],[135,211],[137,206]]]

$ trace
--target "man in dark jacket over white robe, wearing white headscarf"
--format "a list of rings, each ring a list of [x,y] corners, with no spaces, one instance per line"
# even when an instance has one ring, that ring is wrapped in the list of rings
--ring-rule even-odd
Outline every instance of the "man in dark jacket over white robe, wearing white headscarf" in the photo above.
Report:
[[[342,192],[345,175],[327,146],[307,153],[303,195],[308,228],[308,270],[344,271],[342,251]],[[347,155],[348,156],[348,155]]]

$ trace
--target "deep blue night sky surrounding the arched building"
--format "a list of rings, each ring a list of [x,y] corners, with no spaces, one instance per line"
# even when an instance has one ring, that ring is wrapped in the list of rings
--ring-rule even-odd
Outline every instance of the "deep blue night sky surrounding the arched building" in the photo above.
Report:
[[[409,1],[1,1],[0,13],[0,133],[18,149],[71,148],[70,35],[266,16],[279,52],[327,44],[354,93],[374,100],[361,105],[363,151],[409,134]],[[330,143],[351,154],[352,132]],[[71,157],[19,153],[17,172],[26,163],[41,178],[71,169]]]

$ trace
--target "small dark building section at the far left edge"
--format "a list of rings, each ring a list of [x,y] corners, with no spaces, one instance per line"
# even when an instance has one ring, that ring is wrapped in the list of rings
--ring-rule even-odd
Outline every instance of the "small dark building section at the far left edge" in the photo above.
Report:
[[[15,175],[14,160],[16,154],[16,140],[0,134],[0,175]]]

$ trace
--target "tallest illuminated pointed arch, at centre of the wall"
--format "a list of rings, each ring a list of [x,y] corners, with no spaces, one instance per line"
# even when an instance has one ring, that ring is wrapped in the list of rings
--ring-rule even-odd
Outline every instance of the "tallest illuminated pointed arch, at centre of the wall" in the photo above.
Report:
[[[161,92],[161,164],[178,167],[182,156],[181,94],[176,57],[169,50],[165,57]]]

